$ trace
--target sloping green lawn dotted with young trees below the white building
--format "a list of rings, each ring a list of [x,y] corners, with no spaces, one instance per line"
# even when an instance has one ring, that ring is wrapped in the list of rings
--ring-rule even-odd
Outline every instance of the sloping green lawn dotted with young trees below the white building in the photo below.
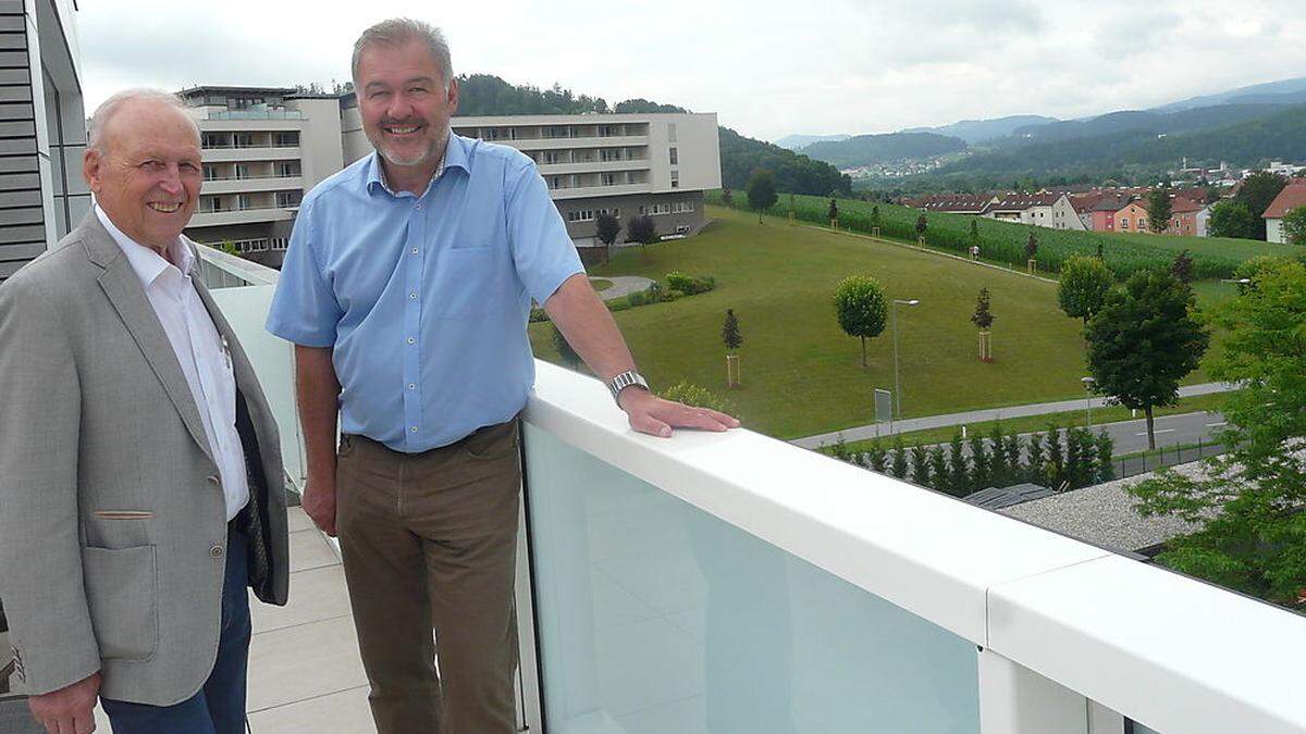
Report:
[[[872,388],[892,388],[891,334],[858,341],[835,321],[831,298],[850,274],[879,278],[899,307],[902,413],[930,415],[1083,394],[1080,324],[1057,308],[1055,285],[867,238],[790,227],[782,219],[712,206],[703,234],[618,252],[592,274],[716,277],[717,289],[615,313],[654,388],[687,380],[727,398],[744,423],[797,438],[868,423]],[[969,317],[980,287],[993,294],[995,362],[976,359]],[[743,387],[725,385],[721,323],[739,316]],[[535,354],[556,360],[549,324],[532,324]],[[1200,374],[1188,381],[1205,381]]]

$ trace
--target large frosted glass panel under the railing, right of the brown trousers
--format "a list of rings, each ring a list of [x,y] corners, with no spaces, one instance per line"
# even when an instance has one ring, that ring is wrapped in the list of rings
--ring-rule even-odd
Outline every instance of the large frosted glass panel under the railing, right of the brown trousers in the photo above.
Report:
[[[980,730],[974,645],[525,427],[549,731]]]

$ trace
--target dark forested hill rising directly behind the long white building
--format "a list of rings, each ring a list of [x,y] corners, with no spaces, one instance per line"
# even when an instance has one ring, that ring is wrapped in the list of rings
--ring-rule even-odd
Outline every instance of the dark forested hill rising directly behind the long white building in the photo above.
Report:
[[[675,104],[648,99],[626,99],[609,106],[602,97],[572,94],[554,85],[539,89],[513,85],[491,74],[458,77],[458,115],[582,115],[585,112],[688,112]],[[786,193],[824,196],[852,192],[852,180],[833,166],[812,161],[769,142],[743,137],[730,128],[718,128],[721,136],[721,183],[743,189],[754,168],[767,168],[776,175],[776,188]]]

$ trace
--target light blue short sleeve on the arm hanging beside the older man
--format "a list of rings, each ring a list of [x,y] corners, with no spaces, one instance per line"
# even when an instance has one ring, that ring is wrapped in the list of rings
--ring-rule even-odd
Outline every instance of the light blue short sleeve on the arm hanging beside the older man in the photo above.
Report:
[[[323,270],[317,253],[321,243],[315,240],[313,230],[312,204],[306,202],[290,234],[266,328],[293,343],[325,347],[336,343],[336,325],[343,311]]]

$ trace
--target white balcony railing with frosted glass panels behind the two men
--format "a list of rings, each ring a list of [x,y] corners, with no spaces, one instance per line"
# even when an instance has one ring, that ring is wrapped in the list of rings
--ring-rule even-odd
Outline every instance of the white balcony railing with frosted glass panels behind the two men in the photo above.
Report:
[[[272,287],[215,296],[295,440]],[[636,435],[598,381],[537,371],[524,724],[1306,733],[1303,616],[751,431]]]

